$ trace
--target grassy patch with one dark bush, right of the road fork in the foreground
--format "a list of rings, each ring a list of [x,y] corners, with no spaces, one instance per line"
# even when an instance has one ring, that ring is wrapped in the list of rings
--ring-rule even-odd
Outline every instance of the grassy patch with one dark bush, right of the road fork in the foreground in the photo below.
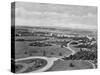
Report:
[[[58,60],[55,61],[54,65],[48,71],[80,70],[92,68],[93,66],[84,60]]]

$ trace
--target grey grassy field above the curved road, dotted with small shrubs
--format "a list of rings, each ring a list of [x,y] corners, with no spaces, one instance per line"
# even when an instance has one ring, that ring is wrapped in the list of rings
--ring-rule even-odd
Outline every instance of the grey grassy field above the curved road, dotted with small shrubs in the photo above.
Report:
[[[58,57],[66,56],[71,53],[70,50],[59,46],[33,47],[29,46],[29,43],[30,42],[15,42],[16,58],[24,58],[28,56]]]

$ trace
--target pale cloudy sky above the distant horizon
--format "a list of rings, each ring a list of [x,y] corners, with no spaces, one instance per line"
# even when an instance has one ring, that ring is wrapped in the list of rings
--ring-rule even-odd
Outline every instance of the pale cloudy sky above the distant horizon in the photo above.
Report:
[[[97,29],[97,7],[16,2],[15,25]]]

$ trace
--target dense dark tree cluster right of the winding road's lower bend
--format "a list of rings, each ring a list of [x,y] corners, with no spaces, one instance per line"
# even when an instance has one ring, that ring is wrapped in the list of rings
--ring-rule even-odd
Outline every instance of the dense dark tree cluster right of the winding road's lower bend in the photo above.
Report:
[[[79,51],[74,55],[70,55],[69,57],[65,57],[66,60],[95,60],[97,59],[97,51]]]

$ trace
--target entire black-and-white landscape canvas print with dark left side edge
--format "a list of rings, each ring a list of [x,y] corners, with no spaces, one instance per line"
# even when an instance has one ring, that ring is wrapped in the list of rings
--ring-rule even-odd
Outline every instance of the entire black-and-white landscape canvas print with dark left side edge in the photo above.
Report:
[[[97,69],[97,7],[13,2],[14,73]]]

